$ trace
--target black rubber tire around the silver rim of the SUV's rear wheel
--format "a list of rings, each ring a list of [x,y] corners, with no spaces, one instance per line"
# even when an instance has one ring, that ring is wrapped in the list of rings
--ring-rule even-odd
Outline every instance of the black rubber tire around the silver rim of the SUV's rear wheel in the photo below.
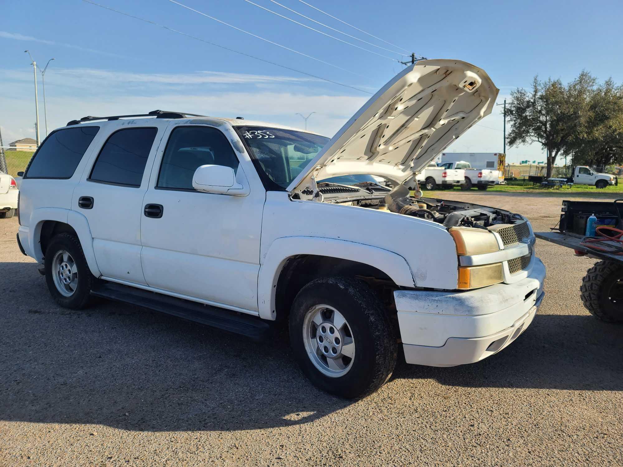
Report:
[[[77,286],[70,296],[62,295],[54,282],[53,275],[57,271],[52,271],[52,263],[56,253],[60,250],[64,250],[71,255],[77,268]],[[50,240],[50,244],[45,250],[44,269],[47,288],[56,303],[70,309],[82,309],[87,306],[93,283],[95,283],[95,276],[88,268],[87,260],[82,252],[82,245],[80,245],[80,240],[75,235],[64,232]]]

